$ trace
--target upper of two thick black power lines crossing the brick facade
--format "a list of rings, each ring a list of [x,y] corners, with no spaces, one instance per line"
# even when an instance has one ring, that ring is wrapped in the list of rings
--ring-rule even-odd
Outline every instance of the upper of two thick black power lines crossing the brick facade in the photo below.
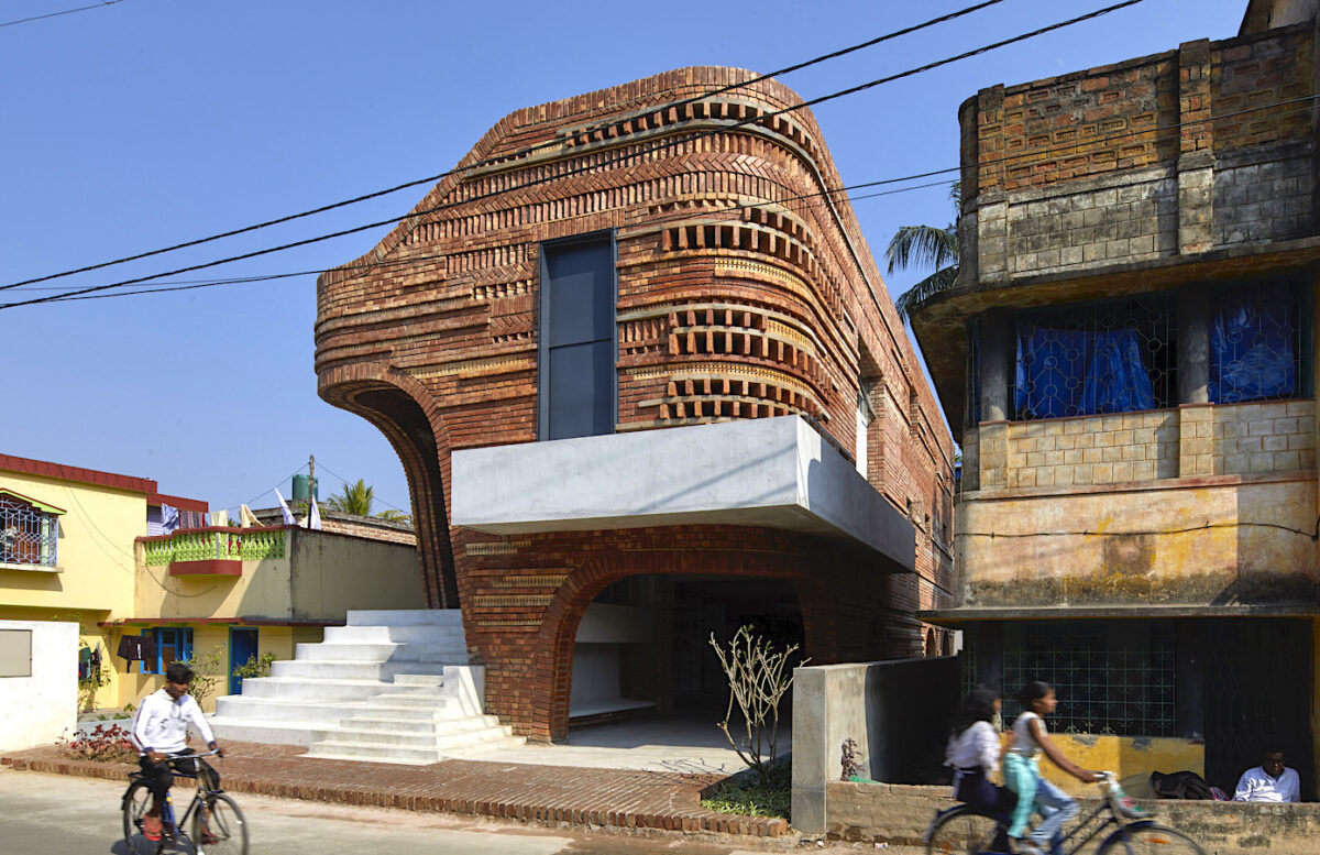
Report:
[[[120,3],[121,0],[112,0],[112,1],[114,3]],[[909,33],[915,33],[915,32],[925,29],[928,26],[935,26],[936,24],[944,24],[946,21],[952,21],[954,18],[960,18],[960,17],[962,17],[965,15],[970,15],[973,12],[979,12],[981,9],[985,9],[986,7],[997,5],[999,3],[1003,3],[1003,0],[983,0],[982,3],[977,3],[977,4],[973,4],[973,5],[966,7],[964,9],[958,9],[957,12],[950,12],[948,15],[941,15],[940,17],[935,17],[935,18],[931,18],[928,21],[923,21],[921,24],[913,24],[912,26],[906,26],[903,29],[898,29],[898,30],[894,30],[891,33],[886,33],[883,36],[876,36],[875,38],[867,40],[865,42],[859,42],[857,45],[851,45],[849,48],[843,48],[843,49],[836,50],[833,53],[822,54],[820,57],[813,57],[812,59],[807,59],[805,62],[799,62],[799,63],[795,63],[795,65],[791,65],[791,66],[785,66],[783,69],[779,69],[777,71],[770,71],[768,74],[762,74],[759,77],[751,78],[750,80],[743,80],[741,83],[730,83],[727,86],[722,86],[719,88],[710,90],[710,91],[702,92],[700,95],[692,95],[692,96],[685,98],[685,99],[678,100],[678,102],[673,102],[673,103],[669,103],[669,104],[663,104],[661,107],[657,107],[657,110],[671,110],[671,108],[677,108],[677,107],[684,107],[686,104],[694,104],[694,103],[697,103],[700,100],[704,100],[706,98],[713,98],[715,95],[721,95],[723,92],[729,92],[729,91],[733,91],[735,88],[746,88],[746,87],[752,86],[755,83],[760,83],[762,80],[767,80],[767,79],[770,79],[772,77],[781,77],[784,74],[792,74],[793,71],[800,71],[803,69],[810,67],[813,65],[818,65],[821,62],[826,62],[829,59],[837,59],[840,57],[845,57],[845,55],[847,55],[850,53],[855,53],[855,51],[863,50],[866,48],[873,48],[875,45],[879,45],[882,42],[898,38],[900,36],[907,36]],[[94,8],[94,7],[84,7],[84,8]],[[63,15],[63,13],[59,13],[59,15]],[[583,132],[590,133],[590,132],[594,132],[594,131],[599,131],[602,128],[609,128],[609,127],[615,125],[615,124],[620,124],[620,123],[618,120],[610,120],[610,121],[599,123],[597,125],[589,125],[587,128],[583,129]],[[341,202],[334,202],[334,203],[330,203],[330,205],[322,205],[321,207],[310,208],[308,211],[301,211],[298,214],[289,214],[289,215],[285,215],[285,216],[279,216],[276,219],[265,220],[265,222],[261,222],[261,223],[255,223],[252,226],[244,226],[242,228],[234,228],[234,230],[230,230],[230,231],[226,231],[226,232],[219,232],[219,234],[215,234],[215,235],[210,235],[207,238],[198,238],[198,239],[194,239],[194,240],[186,240],[183,243],[174,244],[172,247],[164,247],[164,248],[160,248],[160,249],[150,249],[148,252],[139,252],[136,255],[124,256],[121,259],[114,259],[111,261],[102,261],[99,264],[91,264],[91,265],[77,268],[77,269],[71,269],[71,270],[63,270],[63,272],[59,272],[59,273],[50,273],[50,274],[46,274],[46,276],[40,276],[40,277],[36,277],[36,278],[24,280],[21,282],[12,282],[9,285],[0,285],[0,290],[8,290],[11,288],[18,288],[18,286],[22,286],[22,285],[34,285],[37,282],[46,282],[46,281],[50,281],[50,280],[54,280],[54,278],[61,278],[61,277],[65,277],[65,276],[74,276],[77,273],[88,273],[91,270],[99,270],[99,269],[103,269],[103,268],[107,268],[107,267],[114,267],[116,264],[125,264],[128,261],[139,261],[141,259],[149,259],[152,256],[164,255],[166,252],[174,252],[177,249],[186,249],[189,247],[198,247],[201,244],[211,243],[214,240],[222,240],[224,238],[234,238],[235,235],[244,235],[244,234],[253,232],[253,231],[257,231],[257,230],[261,230],[261,228],[269,228],[271,226],[279,226],[281,223],[289,223],[289,222],[293,222],[293,220],[297,220],[297,219],[302,219],[302,218],[306,218],[306,216],[313,216],[315,214],[325,214],[326,211],[333,211],[335,208],[346,207],[346,206],[350,206],[350,205],[358,205],[359,202],[367,202],[370,199],[376,199],[376,198],[380,198],[380,197],[385,197],[385,195],[389,195],[392,193],[397,193],[400,190],[407,190],[408,187],[416,187],[417,185],[434,183],[434,182],[437,182],[437,181],[440,181],[442,178],[446,178],[449,175],[455,175],[455,174],[459,174],[459,173],[471,172],[471,170],[479,169],[482,166],[488,166],[488,165],[492,165],[492,164],[507,161],[510,158],[527,157],[527,156],[533,154],[533,153],[536,153],[539,150],[548,149],[548,148],[557,148],[560,145],[561,145],[561,142],[558,140],[550,140],[550,141],[546,141],[546,142],[539,142],[536,145],[523,148],[523,149],[520,149],[517,152],[512,152],[512,153],[508,153],[508,154],[500,154],[499,157],[490,157],[490,158],[486,158],[486,160],[480,160],[480,161],[477,161],[475,164],[469,164],[467,166],[457,166],[454,169],[450,169],[447,172],[442,172],[442,173],[436,174],[436,175],[428,175],[425,178],[417,178],[414,181],[407,181],[404,183],[395,185],[393,187],[387,187],[384,190],[376,190],[375,193],[367,193],[364,195],[354,197],[351,199],[343,199]]]

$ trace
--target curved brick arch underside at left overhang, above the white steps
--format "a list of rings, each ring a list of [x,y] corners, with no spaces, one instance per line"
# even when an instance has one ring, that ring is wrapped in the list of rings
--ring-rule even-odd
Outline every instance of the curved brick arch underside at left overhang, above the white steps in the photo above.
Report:
[[[404,464],[428,608],[458,608],[449,530],[449,434],[430,392],[385,363],[321,372],[321,397],[375,425]]]

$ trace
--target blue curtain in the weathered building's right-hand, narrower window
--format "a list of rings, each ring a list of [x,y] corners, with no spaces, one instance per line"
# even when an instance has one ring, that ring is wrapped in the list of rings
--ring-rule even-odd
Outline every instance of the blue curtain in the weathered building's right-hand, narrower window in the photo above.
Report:
[[[1210,400],[1233,404],[1296,395],[1296,290],[1287,284],[1221,296],[1210,323]]]

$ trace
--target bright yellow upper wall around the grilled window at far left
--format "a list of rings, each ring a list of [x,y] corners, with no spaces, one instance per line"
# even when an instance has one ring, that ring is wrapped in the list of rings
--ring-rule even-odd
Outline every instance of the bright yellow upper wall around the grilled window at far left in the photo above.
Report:
[[[21,472],[0,487],[63,508],[61,573],[0,570],[0,603],[127,618],[133,607],[133,538],[147,533],[147,496]]]

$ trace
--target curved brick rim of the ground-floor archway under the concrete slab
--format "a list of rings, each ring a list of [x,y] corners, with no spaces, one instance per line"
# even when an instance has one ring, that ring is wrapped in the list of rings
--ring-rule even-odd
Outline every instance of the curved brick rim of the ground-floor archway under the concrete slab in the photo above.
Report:
[[[727,565],[713,563],[727,561]],[[817,664],[836,658],[834,625],[826,612],[824,585],[804,573],[799,557],[750,553],[737,548],[701,552],[656,549],[593,558],[569,574],[546,606],[536,637],[533,672],[535,714],[525,722],[532,739],[560,740],[568,735],[569,695],[573,686],[573,643],[586,607],[607,586],[632,575],[710,574],[784,579],[793,586],[803,611],[804,647]]]

